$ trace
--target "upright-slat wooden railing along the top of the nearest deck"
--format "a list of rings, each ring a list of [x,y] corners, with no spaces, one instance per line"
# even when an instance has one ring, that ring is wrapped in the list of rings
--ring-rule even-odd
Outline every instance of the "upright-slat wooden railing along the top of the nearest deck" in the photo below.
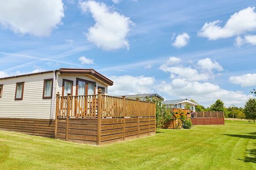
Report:
[[[102,95],[56,97],[56,117],[136,117],[155,116],[155,103]]]

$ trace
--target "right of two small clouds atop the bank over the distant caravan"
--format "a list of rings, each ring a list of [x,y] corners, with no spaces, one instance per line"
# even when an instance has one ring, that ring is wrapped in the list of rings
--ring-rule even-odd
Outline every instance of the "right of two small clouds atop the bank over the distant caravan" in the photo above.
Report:
[[[212,71],[215,69],[219,72],[223,71],[222,66],[217,61],[211,61],[210,58],[199,60],[197,65],[200,67],[200,69],[203,69],[203,70]]]

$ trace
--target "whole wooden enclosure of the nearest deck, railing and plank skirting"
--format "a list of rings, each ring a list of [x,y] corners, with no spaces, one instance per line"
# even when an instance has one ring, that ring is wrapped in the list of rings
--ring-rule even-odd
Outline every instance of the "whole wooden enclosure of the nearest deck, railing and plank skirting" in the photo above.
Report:
[[[102,95],[56,97],[55,138],[103,145],[155,134],[155,103]]]

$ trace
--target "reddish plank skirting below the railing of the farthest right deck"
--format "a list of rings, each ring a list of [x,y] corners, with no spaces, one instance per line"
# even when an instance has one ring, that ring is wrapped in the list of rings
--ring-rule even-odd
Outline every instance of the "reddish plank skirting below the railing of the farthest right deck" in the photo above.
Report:
[[[224,125],[224,118],[193,118],[193,125]]]

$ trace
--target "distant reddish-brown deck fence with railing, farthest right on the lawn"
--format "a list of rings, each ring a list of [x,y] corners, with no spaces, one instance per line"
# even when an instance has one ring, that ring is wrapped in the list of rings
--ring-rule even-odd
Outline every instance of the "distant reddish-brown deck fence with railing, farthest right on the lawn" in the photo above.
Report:
[[[195,112],[191,121],[193,125],[224,125],[224,112]]]

